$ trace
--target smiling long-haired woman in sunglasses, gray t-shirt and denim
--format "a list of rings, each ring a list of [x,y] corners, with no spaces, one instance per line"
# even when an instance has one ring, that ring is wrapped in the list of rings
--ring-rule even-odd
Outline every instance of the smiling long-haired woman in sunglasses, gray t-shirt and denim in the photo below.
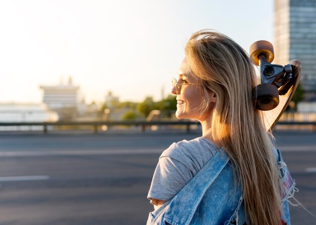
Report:
[[[177,118],[198,120],[202,136],[160,157],[147,224],[290,224],[295,183],[253,106],[255,86],[254,66],[232,39],[210,30],[190,37],[172,93]]]

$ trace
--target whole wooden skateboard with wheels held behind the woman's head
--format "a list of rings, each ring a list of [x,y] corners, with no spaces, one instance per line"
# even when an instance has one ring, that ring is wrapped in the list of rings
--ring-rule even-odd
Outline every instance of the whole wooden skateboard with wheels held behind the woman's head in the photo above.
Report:
[[[274,50],[268,41],[254,42],[249,54],[260,70],[260,80],[252,90],[253,104],[256,109],[262,110],[264,126],[269,130],[290,103],[301,77],[302,65],[297,59],[284,66],[271,64]]]

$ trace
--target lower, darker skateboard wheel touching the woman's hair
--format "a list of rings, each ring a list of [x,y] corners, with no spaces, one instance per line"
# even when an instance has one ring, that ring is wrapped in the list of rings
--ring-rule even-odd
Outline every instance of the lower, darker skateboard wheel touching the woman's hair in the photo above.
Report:
[[[279,92],[272,84],[261,84],[252,90],[252,101],[256,109],[268,111],[279,105]]]

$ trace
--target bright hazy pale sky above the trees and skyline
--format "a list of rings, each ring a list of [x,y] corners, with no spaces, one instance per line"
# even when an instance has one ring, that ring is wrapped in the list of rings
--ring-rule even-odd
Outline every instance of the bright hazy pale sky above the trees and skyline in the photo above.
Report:
[[[71,76],[87,103],[159,101],[195,31],[215,29],[247,52],[273,43],[273,0],[1,0],[0,103],[40,103],[40,85]]]

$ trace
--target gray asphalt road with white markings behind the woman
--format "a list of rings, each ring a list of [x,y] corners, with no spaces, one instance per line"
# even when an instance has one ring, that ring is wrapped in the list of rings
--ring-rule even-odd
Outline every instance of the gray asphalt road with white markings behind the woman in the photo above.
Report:
[[[198,131],[0,134],[0,224],[145,224],[160,154]],[[316,213],[316,133],[279,132],[299,192]],[[292,224],[316,224],[291,207]]]

